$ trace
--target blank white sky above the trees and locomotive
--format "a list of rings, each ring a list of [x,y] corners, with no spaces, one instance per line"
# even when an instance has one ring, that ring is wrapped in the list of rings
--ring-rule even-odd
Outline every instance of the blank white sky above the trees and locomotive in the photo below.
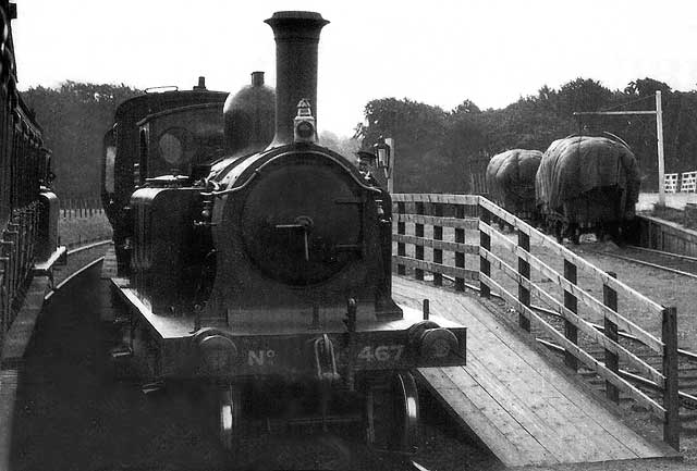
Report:
[[[331,23],[319,45],[318,128],[351,136],[395,97],[503,108],[577,77],[623,89],[651,77],[697,89],[694,0],[14,0],[19,87],[66,79],[236,91],[276,83],[280,10]]]

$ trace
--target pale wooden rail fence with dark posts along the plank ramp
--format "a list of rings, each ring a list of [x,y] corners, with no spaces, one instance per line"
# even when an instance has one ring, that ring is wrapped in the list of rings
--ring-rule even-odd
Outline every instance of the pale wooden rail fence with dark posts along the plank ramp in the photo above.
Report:
[[[610,399],[619,401],[621,391],[651,411],[663,423],[663,441],[680,449],[675,308],[652,301],[484,197],[396,194],[392,200],[398,275],[408,271],[420,281],[432,276],[436,286],[442,286],[443,276],[452,276],[458,292],[465,290],[466,280],[478,280],[480,296],[489,298],[494,292],[517,312],[518,325],[527,332],[534,322],[564,348],[566,367],[577,371],[583,363],[606,381]],[[497,228],[494,219],[505,223],[501,226],[513,227],[513,233]],[[534,255],[531,247],[541,253]],[[551,258],[561,262],[562,270],[550,264]],[[591,284],[599,289],[586,287]],[[558,312],[562,321],[557,324],[561,325],[542,318],[533,299]],[[660,323],[661,338],[623,315],[619,299],[625,309],[631,306]],[[600,320],[603,331],[592,322]],[[660,356],[660,371],[631,351],[631,346],[622,345],[620,331]],[[588,343],[604,349],[603,362],[584,348]],[[662,400],[649,397],[623,377],[621,362],[662,392]]]

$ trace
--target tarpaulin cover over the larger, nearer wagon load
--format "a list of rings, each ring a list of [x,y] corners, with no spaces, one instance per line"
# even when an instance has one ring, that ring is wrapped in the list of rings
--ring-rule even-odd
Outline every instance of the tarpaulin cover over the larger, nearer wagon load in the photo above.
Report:
[[[592,190],[617,188],[625,210],[633,212],[639,184],[636,159],[626,146],[607,137],[572,136],[549,146],[537,171],[535,190],[538,206],[561,212],[565,201]]]

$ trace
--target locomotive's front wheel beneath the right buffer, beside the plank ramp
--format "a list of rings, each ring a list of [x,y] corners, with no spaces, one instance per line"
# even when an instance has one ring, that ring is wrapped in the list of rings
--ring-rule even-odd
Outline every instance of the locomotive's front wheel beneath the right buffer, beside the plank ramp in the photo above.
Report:
[[[409,372],[395,373],[388,384],[371,387],[366,398],[368,444],[411,453],[418,441],[418,392]]]

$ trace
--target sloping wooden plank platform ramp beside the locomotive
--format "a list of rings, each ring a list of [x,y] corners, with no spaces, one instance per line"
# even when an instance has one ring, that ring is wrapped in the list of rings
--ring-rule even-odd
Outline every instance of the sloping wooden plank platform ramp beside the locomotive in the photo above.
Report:
[[[476,298],[393,277],[405,306],[431,301],[431,312],[467,331],[467,365],[421,369],[447,409],[506,466],[555,464],[670,456],[628,429]]]

